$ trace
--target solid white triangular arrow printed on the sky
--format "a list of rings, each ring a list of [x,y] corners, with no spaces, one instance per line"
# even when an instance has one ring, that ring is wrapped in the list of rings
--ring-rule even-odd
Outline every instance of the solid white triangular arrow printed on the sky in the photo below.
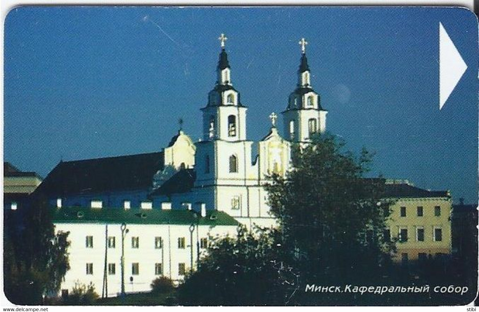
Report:
[[[439,22],[439,109],[443,108],[467,68],[468,65]]]

